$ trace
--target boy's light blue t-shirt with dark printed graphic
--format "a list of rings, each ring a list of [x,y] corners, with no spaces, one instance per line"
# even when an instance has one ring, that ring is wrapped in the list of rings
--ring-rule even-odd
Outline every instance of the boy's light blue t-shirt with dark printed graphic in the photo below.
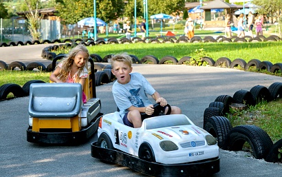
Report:
[[[113,83],[113,98],[120,110],[121,117],[129,112],[127,109],[132,105],[135,107],[152,105],[147,94],[152,95],[155,93],[155,89],[142,74],[134,72],[130,76],[131,79],[127,84],[120,84],[118,81]]]

